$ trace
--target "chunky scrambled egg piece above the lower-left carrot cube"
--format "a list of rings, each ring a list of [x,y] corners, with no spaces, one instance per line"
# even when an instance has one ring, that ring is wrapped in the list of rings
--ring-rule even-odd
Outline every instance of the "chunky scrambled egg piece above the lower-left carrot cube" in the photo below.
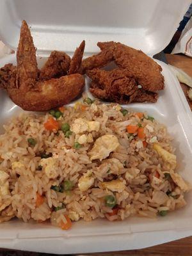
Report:
[[[58,177],[57,163],[57,159],[52,157],[41,159],[40,165],[43,166],[45,174],[49,179],[56,179]]]

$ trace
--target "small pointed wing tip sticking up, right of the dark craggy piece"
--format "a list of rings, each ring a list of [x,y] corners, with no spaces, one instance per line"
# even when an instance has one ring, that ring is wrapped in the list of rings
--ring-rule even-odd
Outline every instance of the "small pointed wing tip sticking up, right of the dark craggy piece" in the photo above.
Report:
[[[81,62],[83,58],[83,52],[84,52],[84,46],[85,42],[81,42],[79,47],[77,47],[74,56],[70,62],[70,68],[68,70],[68,75],[70,74],[76,74],[80,72]]]

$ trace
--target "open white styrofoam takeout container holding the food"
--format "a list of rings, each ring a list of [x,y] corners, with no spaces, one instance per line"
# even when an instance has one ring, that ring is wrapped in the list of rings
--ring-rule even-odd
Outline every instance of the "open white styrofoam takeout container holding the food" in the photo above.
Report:
[[[20,24],[26,19],[37,47],[40,65],[52,50],[71,54],[86,40],[85,55],[99,51],[98,41],[114,40],[141,49],[149,56],[164,49],[177,29],[191,0],[1,0],[0,38],[17,49]],[[15,54],[0,60],[0,67],[16,63]],[[156,104],[129,104],[129,108],[148,111],[167,125],[177,147],[178,170],[192,184],[192,116],[180,84],[163,68],[165,89]],[[0,92],[0,120],[22,111]],[[0,225],[0,248],[49,253],[104,252],[131,250],[172,241],[192,234],[192,193],[187,206],[165,218],[129,218],[109,222],[95,220],[73,223],[71,230],[40,223],[12,220]]]

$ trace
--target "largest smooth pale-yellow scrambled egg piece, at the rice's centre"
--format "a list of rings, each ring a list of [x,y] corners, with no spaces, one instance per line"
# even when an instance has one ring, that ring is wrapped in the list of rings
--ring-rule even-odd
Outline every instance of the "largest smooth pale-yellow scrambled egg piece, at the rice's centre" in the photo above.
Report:
[[[120,143],[118,142],[118,138],[112,134],[106,134],[101,136],[95,141],[92,150],[90,151],[90,160],[93,159],[105,159],[109,156],[111,152],[113,152]]]

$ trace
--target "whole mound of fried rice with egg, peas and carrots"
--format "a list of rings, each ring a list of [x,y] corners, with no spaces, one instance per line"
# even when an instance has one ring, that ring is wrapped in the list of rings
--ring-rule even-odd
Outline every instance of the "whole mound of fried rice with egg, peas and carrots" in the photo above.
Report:
[[[172,138],[147,113],[95,101],[65,107],[58,129],[45,128],[49,118],[22,113],[4,125],[1,222],[51,220],[67,229],[68,220],[155,218],[186,205],[190,186],[175,173]]]

